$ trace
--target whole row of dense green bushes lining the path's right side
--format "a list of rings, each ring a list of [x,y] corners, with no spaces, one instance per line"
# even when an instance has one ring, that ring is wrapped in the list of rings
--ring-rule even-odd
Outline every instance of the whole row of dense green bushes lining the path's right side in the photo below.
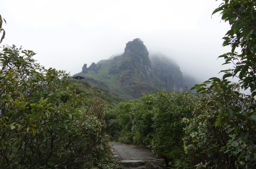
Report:
[[[177,158],[183,154],[186,124],[181,121],[191,116],[193,101],[191,93],[159,90],[144,95],[141,101],[120,103],[106,112],[107,131],[112,139],[149,148],[178,166],[185,160]]]

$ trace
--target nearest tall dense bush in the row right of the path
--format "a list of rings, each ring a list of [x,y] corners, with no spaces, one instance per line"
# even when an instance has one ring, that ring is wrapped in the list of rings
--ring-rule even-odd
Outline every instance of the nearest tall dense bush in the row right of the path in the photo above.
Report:
[[[151,142],[152,150],[166,158],[174,167],[174,163],[179,163],[181,160],[178,157],[183,154],[181,149],[183,146],[183,127],[186,125],[181,121],[184,117],[191,117],[194,98],[190,92],[159,91],[153,95],[152,99],[154,103],[153,128],[155,131]],[[182,161],[184,160],[182,159]]]

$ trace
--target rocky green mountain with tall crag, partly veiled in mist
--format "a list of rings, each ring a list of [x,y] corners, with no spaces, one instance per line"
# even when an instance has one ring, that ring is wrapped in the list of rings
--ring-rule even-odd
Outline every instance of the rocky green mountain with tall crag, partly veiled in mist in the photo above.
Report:
[[[149,56],[146,46],[139,38],[126,44],[123,54],[111,56],[88,68],[84,64],[76,75],[85,77],[85,81],[105,88],[129,99],[139,99],[143,94],[159,89],[180,91],[184,80],[179,66],[161,54]]]

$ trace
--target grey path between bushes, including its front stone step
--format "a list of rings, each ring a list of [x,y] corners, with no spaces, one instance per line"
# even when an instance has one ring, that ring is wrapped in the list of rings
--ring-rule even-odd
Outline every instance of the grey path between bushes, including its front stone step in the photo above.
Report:
[[[163,169],[164,159],[157,158],[148,149],[117,142],[113,144],[113,155],[125,169]]]

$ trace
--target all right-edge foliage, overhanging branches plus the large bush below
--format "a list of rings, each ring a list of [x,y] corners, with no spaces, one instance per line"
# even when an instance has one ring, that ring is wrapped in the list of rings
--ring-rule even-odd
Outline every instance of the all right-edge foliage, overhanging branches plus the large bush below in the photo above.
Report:
[[[222,79],[213,77],[195,85],[199,96],[193,118],[186,124],[185,150],[197,168],[255,168],[256,166],[256,2],[225,0],[215,14],[231,28],[223,46],[231,52],[219,56],[233,68],[222,70]],[[239,84],[227,77],[239,78]],[[239,93],[250,88],[250,95]],[[214,158],[213,158],[214,157]]]

